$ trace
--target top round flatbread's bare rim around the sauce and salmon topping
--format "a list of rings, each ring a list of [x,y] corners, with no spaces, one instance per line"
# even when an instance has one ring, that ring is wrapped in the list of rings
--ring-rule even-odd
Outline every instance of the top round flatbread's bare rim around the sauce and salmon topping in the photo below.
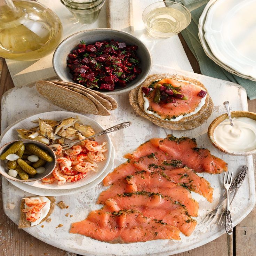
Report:
[[[163,78],[173,78],[173,79],[176,79],[176,80],[185,80],[185,81],[189,81],[191,83],[194,83],[195,85],[197,86],[200,86],[202,87],[204,90],[207,91],[207,89],[205,88],[205,86],[199,82],[198,80],[195,80],[195,79],[192,79],[192,78],[189,78],[189,77],[184,77],[184,76],[181,76],[181,75],[176,75],[176,74],[160,74],[160,75],[152,75],[151,77],[148,77],[143,83],[142,85],[140,86],[139,88],[139,92],[138,92],[138,104],[139,106],[141,107],[141,109],[144,111],[144,98],[143,98],[143,92],[142,92],[142,87],[149,87],[152,82],[156,81],[156,80],[160,80],[160,79],[163,79]],[[183,117],[181,120],[179,121],[168,121],[168,122],[171,122],[171,123],[184,123],[184,122],[188,122],[188,121],[191,121],[199,116],[202,115],[203,112],[205,112],[205,110],[207,109],[208,107],[208,104],[209,104],[209,101],[210,101],[210,96],[208,94],[208,91],[207,91],[207,95],[206,95],[206,99],[205,99],[205,104],[201,107],[201,109],[193,114],[193,115],[190,115],[188,117]],[[155,117],[154,115],[152,114],[148,114],[144,111],[144,113],[146,115],[149,115],[151,118],[157,120],[157,121],[165,121],[165,120],[162,120],[158,117]]]

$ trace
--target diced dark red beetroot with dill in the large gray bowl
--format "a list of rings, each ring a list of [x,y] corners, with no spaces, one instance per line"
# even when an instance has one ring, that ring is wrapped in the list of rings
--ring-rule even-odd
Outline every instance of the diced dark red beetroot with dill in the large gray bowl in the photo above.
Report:
[[[136,45],[126,46],[126,43],[113,39],[91,45],[81,41],[68,55],[67,66],[76,83],[113,91],[116,87],[126,87],[141,73],[137,49]]]

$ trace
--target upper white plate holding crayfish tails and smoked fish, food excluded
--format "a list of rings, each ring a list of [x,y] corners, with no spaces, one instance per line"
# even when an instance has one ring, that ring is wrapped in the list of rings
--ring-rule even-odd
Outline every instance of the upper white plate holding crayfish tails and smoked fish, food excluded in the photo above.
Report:
[[[10,125],[9,127],[6,128],[5,131],[3,131],[2,135],[0,136],[0,144],[4,145],[5,143],[9,141],[13,141],[18,138],[16,129],[30,129],[34,126],[36,126],[34,123],[31,121],[37,120],[38,118],[41,119],[52,119],[52,120],[62,120],[68,117],[78,117],[80,122],[86,125],[90,125],[95,133],[98,133],[102,130],[104,130],[97,122],[95,122],[93,119],[86,117],[85,115],[73,113],[73,112],[67,112],[67,111],[53,111],[53,112],[45,112],[45,113],[40,113],[36,115],[32,115],[30,117],[18,120],[15,122],[13,125]],[[58,185],[56,182],[51,183],[51,184],[44,184],[42,181],[34,181],[34,182],[27,182],[26,184],[31,186],[31,187],[38,187],[41,189],[51,189],[51,190],[63,190],[63,189],[74,189],[77,187],[85,186],[89,184],[90,182],[94,181],[96,178],[101,176],[106,167],[109,165],[109,162],[113,162],[113,158],[111,159],[111,140],[107,134],[104,134],[102,136],[97,137],[97,142],[99,144],[102,144],[103,142],[106,142],[106,149],[107,151],[104,152],[105,155],[105,160],[102,162],[98,162],[98,171],[94,172],[91,171],[88,173],[88,175],[81,179],[80,181],[77,182],[66,182],[65,184]],[[21,183],[21,182],[15,182],[16,183]],[[14,185],[15,185],[14,184]]]

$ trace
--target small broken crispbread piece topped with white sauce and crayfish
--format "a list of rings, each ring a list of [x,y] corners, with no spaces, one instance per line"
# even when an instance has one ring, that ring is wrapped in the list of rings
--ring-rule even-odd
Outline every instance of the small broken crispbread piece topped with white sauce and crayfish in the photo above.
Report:
[[[32,227],[47,220],[55,207],[54,197],[26,197],[21,201],[19,229]]]

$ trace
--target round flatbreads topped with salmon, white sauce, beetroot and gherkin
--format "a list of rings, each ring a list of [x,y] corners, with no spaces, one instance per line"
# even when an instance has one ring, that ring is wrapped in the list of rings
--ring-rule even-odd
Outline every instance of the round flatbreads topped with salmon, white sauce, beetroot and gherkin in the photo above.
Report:
[[[174,74],[151,75],[130,91],[129,102],[137,114],[172,130],[198,127],[213,111],[201,82]]]

